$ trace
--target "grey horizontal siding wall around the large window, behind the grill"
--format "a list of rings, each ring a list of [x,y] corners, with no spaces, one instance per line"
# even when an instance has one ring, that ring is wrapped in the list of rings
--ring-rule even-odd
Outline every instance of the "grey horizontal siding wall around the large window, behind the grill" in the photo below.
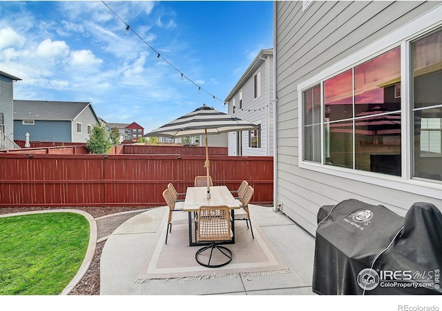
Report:
[[[410,194],[298,167],[298,90],[309,79],[419,17],[440,1],[302,1],[276,3],[276,83],[278,97],[278,203],[315,234],[322,205],[354,198],[382,204],[405,215],[417,201],[442,208],[440,198]]]

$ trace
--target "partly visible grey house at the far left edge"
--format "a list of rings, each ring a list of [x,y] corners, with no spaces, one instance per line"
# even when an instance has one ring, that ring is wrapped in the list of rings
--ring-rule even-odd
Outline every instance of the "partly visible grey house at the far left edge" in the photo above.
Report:
[[[0,149],[18,149],[14,143],[14,81],[20,78],[0,71]]]

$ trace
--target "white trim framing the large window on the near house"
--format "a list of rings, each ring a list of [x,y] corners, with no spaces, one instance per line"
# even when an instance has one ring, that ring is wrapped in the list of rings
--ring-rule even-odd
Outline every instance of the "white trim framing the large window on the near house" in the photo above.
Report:
[[[420,194],[427,197],[434,197],[442,199],[441,195],[441,183],[436,181],[421,181],[420,179],[411,179],[411,160],[412,160],[412,125],[410,122],[410,101],[412,96],[412,90],[405,90],[401,88],[401,122],[404,125],[401,134],[401,154],[402,154],[402,176],[396,177],[393,175],[379,174],[376,172],[365,172],[363,170],[351,170],[348,168],[339,168],[332,165],[325,165],[323,163],[324,148],[321,149],[321,161],[322,163],[312,163],[303,161],[304,159],[304,128],[302,123],[303,109],[302,109],[302,92],[321,83],[321,89],[323,89],[323,81],[329,77],[334,77],[340,72],[344,72],[349,68],[353,68],[368,59],[372,59],[387,50],[391,50],[397,46],[401,46],[401,83],[403,85],[410,86],[410,72],[411,65],[407,61],[410,59],[410,41],[421,37],[426,32],[438,28],[442,25],[442,5],[436,6],[432,10],[425,12],[416,19],[406,23],[405,25],[397,28],[373,43],[369,44],[365,48],[354,52],[345,59],[334,63],[322,72],[314,75],[306,81],[298,84],[298,167],[305,168],[307,170],[313,170],[316,172],[322,172],[324,174],[332,174],[336,177],[343,177],[346,179],[352,179],[355,181],[361,181],[364,183],[370,183],[373,185],[380,185],[386,188],[392,188],[397,190],[403,190],[406,192],[412,192],[414,194]],[[408,72],[409,74],[405,74]],[[323,113],[323,98],[321,98],[321,113]],[[323,114],[321,114],[323,115]],[[321,123],[321,132],[323,132],[323,123]],[[321,135],[321,146],[324,146],[323,135]]]

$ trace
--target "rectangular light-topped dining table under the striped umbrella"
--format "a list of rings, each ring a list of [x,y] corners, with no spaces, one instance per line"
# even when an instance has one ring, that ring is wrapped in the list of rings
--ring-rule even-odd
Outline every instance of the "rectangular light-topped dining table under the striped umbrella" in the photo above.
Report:
[[[184,200],[184,212],[189,212],[189,246],[196,245],[206,245],[207,243],[201,243],[193,241],[193,221],[192,221],[192,213],[198,212],[200,206],[202,205],[227,205],[229,210],[231,211],[231,217],[234,219],[235,210],[240,209],[240,201],[236,200],[231,194],[229,188],[225,185],[217,185],[212,186],[210,188],[210,198],[206,196],[207,187],[189,187],[186,190],[186,199]],[[234,244],[235,243],[235,222],[231,221],[231,230],[233,232],[233,237],[231,241],[224,242],[226,244]],[[196,227],[195,227],[196,232]]]

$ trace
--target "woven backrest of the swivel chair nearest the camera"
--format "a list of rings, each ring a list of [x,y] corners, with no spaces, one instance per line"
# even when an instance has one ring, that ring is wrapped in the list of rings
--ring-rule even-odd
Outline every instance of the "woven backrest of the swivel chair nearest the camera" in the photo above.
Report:
[[[198,241],[229,241],[230,212],[227,205],[202,205],[198,209]]]

